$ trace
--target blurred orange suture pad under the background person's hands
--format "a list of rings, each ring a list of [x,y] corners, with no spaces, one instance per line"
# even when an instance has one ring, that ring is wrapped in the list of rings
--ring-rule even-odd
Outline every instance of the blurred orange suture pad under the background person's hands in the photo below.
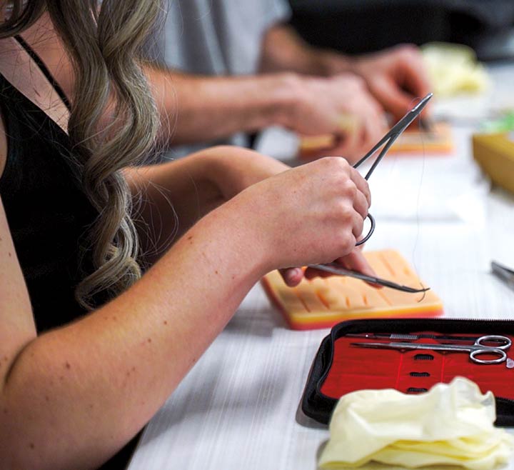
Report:
[[[336,145],[333,136],[302,136],[298,147],[298,156],[309,159],[330,151]],[[391,154],[419,153],[450,154],[453,151],[453,134],[450,124],[436,122],[430,131],[409,128],[401,134],[389,149]]]

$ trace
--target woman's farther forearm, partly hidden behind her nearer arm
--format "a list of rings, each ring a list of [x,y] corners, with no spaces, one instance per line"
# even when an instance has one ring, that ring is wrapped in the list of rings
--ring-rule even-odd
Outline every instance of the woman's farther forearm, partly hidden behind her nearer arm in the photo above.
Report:
[[[216,146],[165,164],[125,171],[146,261],[155,261],[202,216],[285,164],[234,146]]]

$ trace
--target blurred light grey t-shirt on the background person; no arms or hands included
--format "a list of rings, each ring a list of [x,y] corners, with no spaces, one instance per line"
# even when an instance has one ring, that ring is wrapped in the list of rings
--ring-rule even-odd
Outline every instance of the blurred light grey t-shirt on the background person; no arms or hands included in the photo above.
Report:
[[[264,33],[290,14],[286,0],[168,0],[161,55],[166,66],[191,74],[255,74]],[[238,134],[229,141],[174,147],[168,156],[220,143],[246,145],[247,139]]]

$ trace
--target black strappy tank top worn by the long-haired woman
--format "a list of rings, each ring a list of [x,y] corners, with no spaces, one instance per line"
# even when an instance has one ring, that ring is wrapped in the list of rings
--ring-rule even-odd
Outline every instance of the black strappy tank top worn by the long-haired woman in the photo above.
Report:
[[[92,270],[84,235],[98,213],[81,191],[68,135],[1,75],[0,106],[8,144],[0,196],[42,332],[85,313],[74,289]]]

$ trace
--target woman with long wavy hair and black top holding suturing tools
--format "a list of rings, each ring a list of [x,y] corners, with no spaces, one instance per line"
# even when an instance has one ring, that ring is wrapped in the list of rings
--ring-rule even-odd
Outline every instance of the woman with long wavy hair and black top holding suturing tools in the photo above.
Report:
[[[107,461],[271,269],[369,271],[368,186],[342,158],[216,147],[141,166],[181,119],[139,59],[159,9],[0,0],[2,469]]]

